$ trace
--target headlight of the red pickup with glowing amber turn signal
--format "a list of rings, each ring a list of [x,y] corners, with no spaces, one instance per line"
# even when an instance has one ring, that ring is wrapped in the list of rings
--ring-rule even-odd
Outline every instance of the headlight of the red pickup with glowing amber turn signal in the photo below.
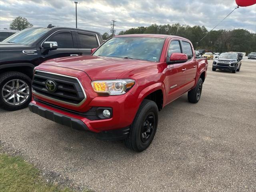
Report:
[[[93,90],[97,93],[122,95],[134,86],[135,81],[132,79],[97,80],[92,81],[91,84]]]

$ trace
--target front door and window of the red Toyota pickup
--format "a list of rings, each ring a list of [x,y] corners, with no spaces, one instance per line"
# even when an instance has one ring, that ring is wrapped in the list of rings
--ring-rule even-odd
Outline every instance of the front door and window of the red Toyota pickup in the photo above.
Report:
[[[170,56],[173,53],[181,53],[181,42],[178,39],[172,39],[169,44],[167,56]],[[175,100],[181,94],[184,93],[184,83],[186,78],[186,64],[185,63],[176,63],[168,64],[166,68],[166,79],[165,79],[165,88],[166,88],[166,101],[167,103]]]

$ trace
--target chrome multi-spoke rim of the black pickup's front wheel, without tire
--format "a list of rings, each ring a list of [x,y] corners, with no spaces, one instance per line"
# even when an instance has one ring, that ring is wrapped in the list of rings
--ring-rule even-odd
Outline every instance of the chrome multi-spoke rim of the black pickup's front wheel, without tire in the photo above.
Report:
[[[8,81],[2,88],[2,98],[13,106],[21,105],[29,98],[30,88],[28,84],[20,79]]]

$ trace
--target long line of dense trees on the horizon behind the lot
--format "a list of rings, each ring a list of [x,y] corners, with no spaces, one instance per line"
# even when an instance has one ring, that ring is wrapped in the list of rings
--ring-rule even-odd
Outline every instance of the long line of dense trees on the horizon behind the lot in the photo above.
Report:
[[[209,33],[202,41],[200,41]],[[152,24],[148,27],[130,28],[120,31],[119,35],[124,34],[167,34],[176,35],[189,39],[194,49],[208,49],[213,52],[256,52],[256,34],[246,29],[233,30],[213,30],[208,32],[204,26],[189,26],[176,24],[157,25]],[[108,33],[103,34],[103,39],[110,38]]]

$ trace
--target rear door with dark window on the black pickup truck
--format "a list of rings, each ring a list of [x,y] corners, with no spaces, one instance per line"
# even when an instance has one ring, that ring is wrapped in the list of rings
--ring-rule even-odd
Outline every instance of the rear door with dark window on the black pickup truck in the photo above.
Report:
[[[94,33],[77,31],[76,38],[80,55],[90,55],[91,49],[97,48],[100,45],[98,36]]]

